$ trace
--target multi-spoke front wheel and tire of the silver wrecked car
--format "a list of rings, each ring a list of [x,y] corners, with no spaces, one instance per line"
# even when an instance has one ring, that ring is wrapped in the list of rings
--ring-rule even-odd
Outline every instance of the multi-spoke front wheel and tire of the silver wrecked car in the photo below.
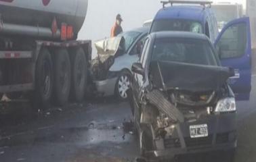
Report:
[[[129,82],[129,85],[125,83],[125,80]],[[116,80],[116,85],[114,87],[114,95],[121,101],[126,101],[129,99],[129,89],[131,88],[131,73],[127,70],[123,70]],[[124,88],[122,88],[124,87]],[[125,90],[127,88],[127,90]],[[123,91],[121,91],[123,89]]]

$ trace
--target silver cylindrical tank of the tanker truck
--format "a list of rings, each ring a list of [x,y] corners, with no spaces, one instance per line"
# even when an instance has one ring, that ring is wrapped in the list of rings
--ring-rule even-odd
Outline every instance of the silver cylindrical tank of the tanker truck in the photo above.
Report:
[[[58,28],[64,22],[73,26],[77,34],[85,21],[87,6],[88,0],[0,0],[0,33],[22,34],[24,29],[25,34],[33,36],[38,32],[48,37],[56,18]]]

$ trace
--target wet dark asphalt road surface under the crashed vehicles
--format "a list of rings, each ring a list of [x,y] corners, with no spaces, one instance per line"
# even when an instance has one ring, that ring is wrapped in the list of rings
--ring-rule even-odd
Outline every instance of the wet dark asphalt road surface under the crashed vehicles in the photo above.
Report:
[[[256,161],[256,77],[251,101],[238,102],[237,162]],[[137,136],[127,103],[98,99],[37,112],[28,103],[2,103],[0,161],[134,161]],[[222,155],[188,156],[185,161],[225,161]]]

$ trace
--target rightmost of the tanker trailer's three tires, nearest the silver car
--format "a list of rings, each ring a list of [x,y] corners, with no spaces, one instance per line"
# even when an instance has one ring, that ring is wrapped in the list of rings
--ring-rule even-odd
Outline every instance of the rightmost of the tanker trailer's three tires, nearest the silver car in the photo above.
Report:
[[[87,59],[83,49],[79,48],[70,55],[71,59],[71,91],[72,101],[81,102],[87,86]]]

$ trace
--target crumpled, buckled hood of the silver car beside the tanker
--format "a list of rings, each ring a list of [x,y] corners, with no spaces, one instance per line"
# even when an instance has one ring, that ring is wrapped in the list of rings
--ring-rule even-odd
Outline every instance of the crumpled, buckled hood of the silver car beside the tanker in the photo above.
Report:
[[[94,43],[98,56],[112,55],[115,56],[118,51],[125,50],[125,40],[122,36],[114,38],[104,38]]]

